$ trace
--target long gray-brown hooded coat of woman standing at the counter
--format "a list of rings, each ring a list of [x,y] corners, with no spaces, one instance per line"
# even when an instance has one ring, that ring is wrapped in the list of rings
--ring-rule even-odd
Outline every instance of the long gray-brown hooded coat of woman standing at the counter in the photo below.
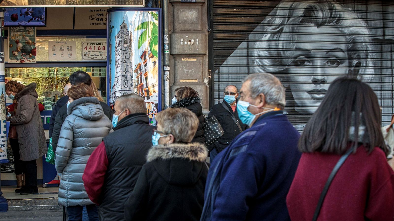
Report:
[[[9,122],[18,134],[20,160],[35,160],[46,154],[46,139],[38,108],[36,83],[31,83],[15,95],[17,110]]]

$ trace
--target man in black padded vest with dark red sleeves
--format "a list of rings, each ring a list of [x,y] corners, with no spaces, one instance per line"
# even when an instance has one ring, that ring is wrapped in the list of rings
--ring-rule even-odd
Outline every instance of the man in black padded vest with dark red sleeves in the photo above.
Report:
[[[89,199],[99,205],[100,220],[125,220],[125,201],[134,189],[152,146],[144,99],[126,94],[116,99],[113,132],[93,151],[82,179]],[[95,133],[92,131],[91,133]]]

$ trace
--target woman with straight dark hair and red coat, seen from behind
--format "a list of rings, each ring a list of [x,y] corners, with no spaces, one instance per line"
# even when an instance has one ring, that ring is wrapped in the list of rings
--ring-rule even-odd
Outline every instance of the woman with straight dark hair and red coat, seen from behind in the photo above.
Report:
[[[392,220],[394,172],[381,133],[372,89],[357,79],[333,81],[299,140],[303,152],[287,195],[292,221],[312,220],[323,187],[347,151],[328,188],[318,220]]]

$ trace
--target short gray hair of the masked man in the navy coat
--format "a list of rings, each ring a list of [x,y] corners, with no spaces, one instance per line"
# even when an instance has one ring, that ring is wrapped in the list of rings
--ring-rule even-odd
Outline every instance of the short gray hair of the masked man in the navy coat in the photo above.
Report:
[[[284,87],[277,77],[262,72],[249,74],[243,79],[242,83],[245,81],[250,81],[249,90],[252,98],[256,98],[259,94],[264,94],[268,105],[282,108],[286,106]]]

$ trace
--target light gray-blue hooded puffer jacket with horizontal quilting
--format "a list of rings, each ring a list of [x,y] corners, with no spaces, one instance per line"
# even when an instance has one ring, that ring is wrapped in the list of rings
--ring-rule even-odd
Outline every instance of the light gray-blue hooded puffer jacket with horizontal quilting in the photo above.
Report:
[[[102,138],[110,133],[112,122],[94,97],[76,99],[67,108],[56,149],[56,170],[61,173],[59,204],[93,204],[87,196],[82,174],[87,160]]]

